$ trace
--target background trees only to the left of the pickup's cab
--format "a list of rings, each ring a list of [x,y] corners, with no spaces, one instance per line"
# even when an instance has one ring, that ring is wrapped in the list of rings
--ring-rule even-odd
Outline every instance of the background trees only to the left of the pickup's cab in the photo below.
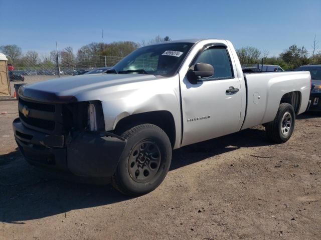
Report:
[[[140,46],[170,40],[169,36],[157,35],[148,41],[142,40],[141,42],[92,42],[80,47],[76,52],[71,46],[67,46],[58,52],[52,50],[45,55],[40,55],[37,51],[32,50],[23,53],[21,47],[12,44],[0,46],[0,52],[7,55],[9,63],[19,67],[55,68],[58,61],[65,68],[96,67],[105,65],[106,58],[104,56],[108,56],[107,65],[113,65]]]

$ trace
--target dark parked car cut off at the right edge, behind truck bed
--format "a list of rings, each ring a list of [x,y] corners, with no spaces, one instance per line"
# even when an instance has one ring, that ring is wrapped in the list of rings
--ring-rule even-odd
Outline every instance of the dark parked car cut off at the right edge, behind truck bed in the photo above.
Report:
[[[310,72],[312,88],[310,94],[311,105],[309,107],[309,111],[321,111],[321,64],[299,66],[295,70]]]

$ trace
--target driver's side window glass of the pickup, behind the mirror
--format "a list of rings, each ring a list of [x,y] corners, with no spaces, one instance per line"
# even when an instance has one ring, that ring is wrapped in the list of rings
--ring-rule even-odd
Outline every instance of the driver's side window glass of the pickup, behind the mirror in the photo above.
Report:
[[[211,64],[214,67],[214,75],[204,77],[204,80],[233,77],[231,62],[226,48],[213,47],[206,49],[198,56],[194,64],[200,62]]]

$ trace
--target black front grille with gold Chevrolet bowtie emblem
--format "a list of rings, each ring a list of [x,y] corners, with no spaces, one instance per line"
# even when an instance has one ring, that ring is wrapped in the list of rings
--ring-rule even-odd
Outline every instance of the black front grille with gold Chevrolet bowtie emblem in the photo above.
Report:
[[[28,101],[21,97],[18,104],[20,120],[26,127],[46,133],[55,130],[57,107],[54,104]]]

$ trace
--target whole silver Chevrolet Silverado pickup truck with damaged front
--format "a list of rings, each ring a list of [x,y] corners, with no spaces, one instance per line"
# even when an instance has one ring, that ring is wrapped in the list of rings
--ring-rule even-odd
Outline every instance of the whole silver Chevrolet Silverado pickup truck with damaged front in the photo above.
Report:
[[[140,195],[164,180],[172,149],[258,124],[287,141],[310,81],[308,71],[244,74],[228,40],[162,42],[103,74],[20,88],[13,128],[31,164],[111,177],[121,192]]]

